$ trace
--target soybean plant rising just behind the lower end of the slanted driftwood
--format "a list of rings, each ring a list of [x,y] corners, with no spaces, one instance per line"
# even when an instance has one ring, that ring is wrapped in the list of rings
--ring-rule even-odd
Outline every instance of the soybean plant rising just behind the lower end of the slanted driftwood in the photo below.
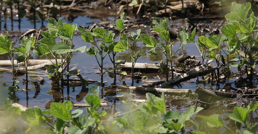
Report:
[[[153,54],[158,57],[158,55],[157,55],[158,53],[155,50],[155,48],[157,47],[165,55],[165,57],[166,57],[165,62],[163,62],[162,59],[160,57],[158,57],[158,59],[160,60],[160,64],[157,66],[159,67],[159,69],[160,69],[159,72],[161,74],[166,74],[166,80],[168,81],[168,74],[170,71],[172,72],[172,78],[174,76],[173,66],[172,66],[172,62],[173,62],[172,59],[173,59],[174,55],[182,48],[183,45],[185,45],[188,42],[194,41],[195,30],[191,34],[187,34],[185,32],[185,28],[183,27],[183,30],[181,31],[181,36],[178,33],[178,38],[177,38],[181,42],[181,45],[177,49],[177,51],[175,53],[173,53],[172,46],[174,45],[174,42],[170,41],[170,35],[169,35],[169,31],[168,31],[168,18],[166,18],[165,20],[162,18],[155,18],[155,20],[153,20],[152,23],[155,24],[155,26],[153,26],[153,28],[151,30],[158,32],[158,36],[165,42],[159,43],[159,45],[160,45],[159,46],[159,45],[157,45],[156,40],[154,39],[153,36],[150,36],[147,34],[141,34],[140,37],[141,37],[143,44],[146,47],[151,48],[148,51],[148,54]],[[171,68],[168,67],[168,62],[170,62]]]

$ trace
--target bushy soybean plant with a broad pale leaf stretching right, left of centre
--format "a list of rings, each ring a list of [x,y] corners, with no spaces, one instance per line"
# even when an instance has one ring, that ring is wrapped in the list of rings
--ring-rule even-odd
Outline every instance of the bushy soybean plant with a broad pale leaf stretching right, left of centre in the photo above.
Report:
[[[85,52],[86,46],[79,47],[74,49],[75,45],[73,45],[73,34],[77,30],[77,24],[67,24],[62,21],[62,18],[59,18],[58,22],[54,18],[48,18],[48,29],[45,32],[42,32],[44,38],[39,40],[39,45],[34,45],[35,51],[33,51],[36,55],[42,56],[45,55],[47,58],[48,53],[52,53],[55,57],[56,63],[54,64],[49,58],[49,60],[56,66],[56,71],[54,75],[49,75],[50,79],[52,79],[53,86],[59,86],[59,79],[61,78],[61,86],[63,87],[63,65],[67,62],[66,67],[66,78],[67,78],[67,89],[69,89],[69,76],[76,75],[80,78],[81,82],[84,84],[83,86],[87,85],[87,82],[82,79],[80,75],[80,70],[69,70],[71,57],[73,52],[80,51],[81,53]],[[54,38],[59,37],[61,38],[61,42],[55,43]],[[70,41],[70,42],[69,42]],[[64,55],[65,54],[65,55]],[[61,68],[58,69],[59,64],[57,62],[58,56],[61,59]],[[47,65],[46,66],[49,70],[54,70],[53,67]]]

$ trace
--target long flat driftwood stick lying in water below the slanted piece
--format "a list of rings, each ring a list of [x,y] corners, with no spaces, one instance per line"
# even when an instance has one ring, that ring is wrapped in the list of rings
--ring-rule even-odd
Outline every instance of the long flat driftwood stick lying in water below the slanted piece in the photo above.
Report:
[[[152,92],[152,93],[192,93],[190,89],[161,89],[161,88],[148,88],[148,87],[137,87],[137,86],[125,86],[117,85],[118,89],[127,89],[135,92]]]

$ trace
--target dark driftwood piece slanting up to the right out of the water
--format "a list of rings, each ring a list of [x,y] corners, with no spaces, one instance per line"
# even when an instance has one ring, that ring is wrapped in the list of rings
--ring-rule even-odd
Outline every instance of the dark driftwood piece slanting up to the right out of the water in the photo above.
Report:
[[[195,69],[192,69],[191,71],[188,71],[188,72],[186,72],[182,75],[179,75],[174,79],[168,80],[167,82],[162,83],[160,86],[161,87],[166,87],[166,86],[169,86],[169,85],[177,84],[177,83],[184,82],[184,81],[187,81],[189,79],[195,78],[195,76],[197,76],[197,75],[202,76],[198,72],[207,68],[209,65],[211,65],[211,64],[209,64],[209,62],[211,62],[211,61],[212,60],[208,61],[206,64],[203,64],[203,65],[200,65],[200,66],[196,67]]]

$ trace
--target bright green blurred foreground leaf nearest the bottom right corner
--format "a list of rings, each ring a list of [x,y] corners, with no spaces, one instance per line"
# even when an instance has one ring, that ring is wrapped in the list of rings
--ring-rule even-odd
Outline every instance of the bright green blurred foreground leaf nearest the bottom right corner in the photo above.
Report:
[[[229,114],[229,118],[246,125],[248,118],[247,111],[245,108],[235,107],[233,113]]]

